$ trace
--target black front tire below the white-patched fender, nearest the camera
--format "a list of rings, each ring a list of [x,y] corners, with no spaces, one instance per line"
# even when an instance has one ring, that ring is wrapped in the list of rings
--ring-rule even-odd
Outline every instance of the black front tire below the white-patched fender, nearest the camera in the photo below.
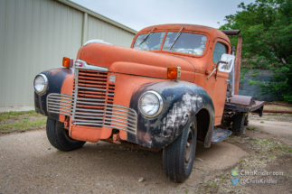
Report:
[[[184,131],[173,143],[164,148],[163,161],[165,175],[174,182],[184,182],[193,171],[193,161],[197,140],[197,122],[194,117],[184,127]],[[187,145],[187,143],[189,143]],[[187,148],[187,146],[189,146]],[[186,157],[188,154],[188,157]],[[188,158],[188,160],[186,159]]]

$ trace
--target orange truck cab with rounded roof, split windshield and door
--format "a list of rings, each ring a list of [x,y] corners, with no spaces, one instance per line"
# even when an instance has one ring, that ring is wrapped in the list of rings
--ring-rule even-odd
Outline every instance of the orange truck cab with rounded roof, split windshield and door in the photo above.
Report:
[[[147,32],[152,30],[154,30],[152,35],[141,44]],[[174,43],[176,37],[178,38]],[[151,26],[137,33],[131,47],[184,60],[184,63],[177,65],[182,68],[180,80],[194,83],[208,92],[214,105],[214,125],[221,125],[229,73],[219,70],[209,79],[208,77],[217,67],[221,55],[231,54],[231,42],[225,33],[210,27],[191,24]]]

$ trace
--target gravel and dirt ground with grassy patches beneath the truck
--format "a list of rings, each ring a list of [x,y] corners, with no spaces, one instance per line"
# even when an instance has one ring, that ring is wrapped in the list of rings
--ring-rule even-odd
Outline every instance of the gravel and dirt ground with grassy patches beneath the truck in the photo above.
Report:
[[[208,149],[197,143],[193,173],[178,184],[166,179],[162,152],[104,142],[60,152],[43,129],[2,134],[0,193],[291,193],[291,143],[291,123],[252,119],[245,135],[231,135]],[[231,185],[233,169],[283,175],[240,176],[277,184]]]

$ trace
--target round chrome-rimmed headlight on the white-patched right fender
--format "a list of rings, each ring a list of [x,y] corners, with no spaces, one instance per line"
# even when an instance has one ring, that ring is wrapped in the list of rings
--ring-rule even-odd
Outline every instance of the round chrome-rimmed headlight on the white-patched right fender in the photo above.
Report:
[[[155,91],[146,91],[139,99],[139,109],[146,117],[159,115],[163,106],[162,97]]]

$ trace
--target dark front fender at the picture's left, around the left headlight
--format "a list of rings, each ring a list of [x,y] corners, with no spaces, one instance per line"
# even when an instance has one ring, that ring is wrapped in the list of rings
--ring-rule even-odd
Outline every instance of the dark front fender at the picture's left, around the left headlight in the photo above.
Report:
[[[59,120],[59,114],[48,113],[47,111],[47,96],[51,93],[61,94],[61,86],[67,76],[74,73],[74,70],[68,68],[50,69],[42,71],[42,74],[48,78],[49,86],[46,93],[39,95],[34,90],[34,107],[37,113],[49,116],[55,120]]]

